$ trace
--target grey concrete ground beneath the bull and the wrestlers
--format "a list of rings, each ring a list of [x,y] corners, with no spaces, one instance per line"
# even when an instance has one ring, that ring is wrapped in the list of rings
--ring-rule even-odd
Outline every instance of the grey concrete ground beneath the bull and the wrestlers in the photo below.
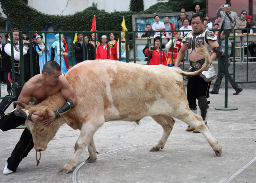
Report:
[[[4,96],[6,86],[1,87]],[[102,182],[171,182],[171,183],[255,183],[256,182],[256,92],[245,89],[239,95],[228,91],[228,105],[238,110],[215,110],[224,106],[224,89],[210,95],[209,131],[222,146],[216,157],[202,134],[186,132],[186,124],[176,120],[165,148],[149,152],[162,135],[162,127],[151,117],[135,122],[106,122],[94,135],[99,157],[84,163],[87,149],[77,168],[59,175],[74,151],[79,130],[62,125],[42,152],[36,166],[35,150],[24,158],[17,172],[0,173],[1,183],[102,183]],[[12,110],[9,107],[8,111]],[[22,129],[0,132],[0,170],[12,153]]]

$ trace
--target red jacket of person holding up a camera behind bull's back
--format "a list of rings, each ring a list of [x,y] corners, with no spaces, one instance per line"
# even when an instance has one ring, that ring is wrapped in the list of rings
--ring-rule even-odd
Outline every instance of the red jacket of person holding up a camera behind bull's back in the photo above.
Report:
[[[151,54],[152,54],[152,58],[150,59]],[[145,49],[145,55],[148,56],[148,49]],[[153,50],[153,51],[149,52],[148,59],[150,59],[149,65],[160,65],[161,64],[161,52],[160,52],[160,49],[159,49],[159,51]],[[167,66],[166,54],[165,54],[165,52],[163,50],[162,50],[162,64]]]

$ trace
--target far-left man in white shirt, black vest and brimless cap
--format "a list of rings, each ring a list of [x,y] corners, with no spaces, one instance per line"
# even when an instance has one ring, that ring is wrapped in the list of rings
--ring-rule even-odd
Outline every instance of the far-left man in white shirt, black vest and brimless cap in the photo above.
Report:
[[[18,43],[19,42],[19,30],[16,28],[9,29],[10,32],[12,32],[12,38],[13,42]],[[8,95],[6,96],[12,96],[13,95],[13,84],[20,85],[20,48],[19,45],[14,45],[13,47],[13,57],[14,57],[14,72],[15,72],[15,78],[12,78],[12,62],[11,56],[11,34],[8,34],[9,38],[6,41],[5,44],[2,46],[2,68],[1,71],[3,71],[4,78],[7,82],[7,92]],[[23,40],[23,55],[27,53],[27,50],[29,49],[27,45],[24,45],[24,43],[27,42],[26,40]],[[22,43],[20,43],[22,44]],[[10,79],[12,78],[12,80]],[[13,82],[12,82],[13,81]],[[12,104],[13,101],[17,101],[21,88],[16,87],[15,88],[15,98],[10,99],[2,99],[0,103],[0,118],[4,115],[5,110],[9,107],[9,105]],[[15,108],[16,105],[14,104],[13,107]]]

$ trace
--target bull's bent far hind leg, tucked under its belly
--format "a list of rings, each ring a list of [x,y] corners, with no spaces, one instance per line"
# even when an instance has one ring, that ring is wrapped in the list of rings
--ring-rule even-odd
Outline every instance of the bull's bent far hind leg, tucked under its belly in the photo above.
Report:
[[[171,116],[166,115],[156,115],[151,116],[159,125],[163,127],[163,135],[161,139],[151,148],[150,151],[159,151],[159,149],[163,148],[169,135],[172,132],[173,125],[175,123],[175,119]]]

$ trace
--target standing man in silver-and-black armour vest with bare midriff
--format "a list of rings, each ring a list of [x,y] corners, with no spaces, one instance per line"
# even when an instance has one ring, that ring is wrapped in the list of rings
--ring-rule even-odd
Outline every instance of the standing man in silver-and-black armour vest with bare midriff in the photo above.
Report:
[[[195,14],[192,16],[192,29],[193,31],[187,33],[182,42],[183,45],[177,55],[175,67],[178,67],[180,61],[183,58],[186,50],[189,50],[189,61],[191,68],[190,72],[200,69],[204,65],[204,56],[197,53],[197,46],[203,44],[211,54],[211,63],[217,58],[217,55],[221,55],[221,49],[218,45],[217,36],[207,29],[203,29],[204,17],[201,14]],[[213,50],[213,51],[212,51]],[[192,112],[197,113],[196,99],[198,99],[198,107],[201,111],[201,116],[204,123],[207,124],[207,109],[209,108],[207,98],[209,97],[209,88],[211,81],[216,78],[212,64],[209,65],[199,76],[188,78],[187,84],[187,99],[189,107]],[[193,127],[188,127],[186,131],[193,131],[193,133],[199,133]]]

